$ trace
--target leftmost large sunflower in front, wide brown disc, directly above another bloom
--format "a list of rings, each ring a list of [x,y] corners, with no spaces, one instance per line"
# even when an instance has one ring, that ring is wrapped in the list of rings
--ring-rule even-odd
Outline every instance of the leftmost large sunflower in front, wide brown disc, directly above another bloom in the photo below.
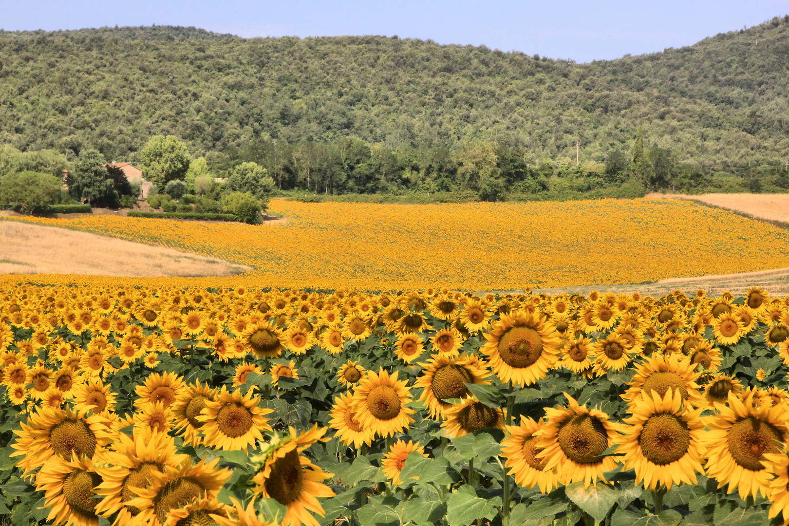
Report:
[[[17,451],[10,456],[23,457],[16,465],[24,469],[25,475],[56,455],[67,460],[73,454],[101,457],[112,435],[104,425],[106,418],[87,416],[88,412],[90,409],[70,408],[40,408],[31,412],[27,423],[21,423],[21,431],[13,431],[17,442],[11,447]]]

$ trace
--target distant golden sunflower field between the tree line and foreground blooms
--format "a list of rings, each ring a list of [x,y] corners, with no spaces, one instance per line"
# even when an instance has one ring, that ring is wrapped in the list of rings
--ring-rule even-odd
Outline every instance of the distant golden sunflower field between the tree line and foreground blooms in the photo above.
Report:
[[[271,211],[286,224],[110,215],[21,220],[226,259],[254,269],[245,285],[279,288],[613,285],[767,270],[789,260],[787,230],[681,200],[420,206],[272,200]]]

